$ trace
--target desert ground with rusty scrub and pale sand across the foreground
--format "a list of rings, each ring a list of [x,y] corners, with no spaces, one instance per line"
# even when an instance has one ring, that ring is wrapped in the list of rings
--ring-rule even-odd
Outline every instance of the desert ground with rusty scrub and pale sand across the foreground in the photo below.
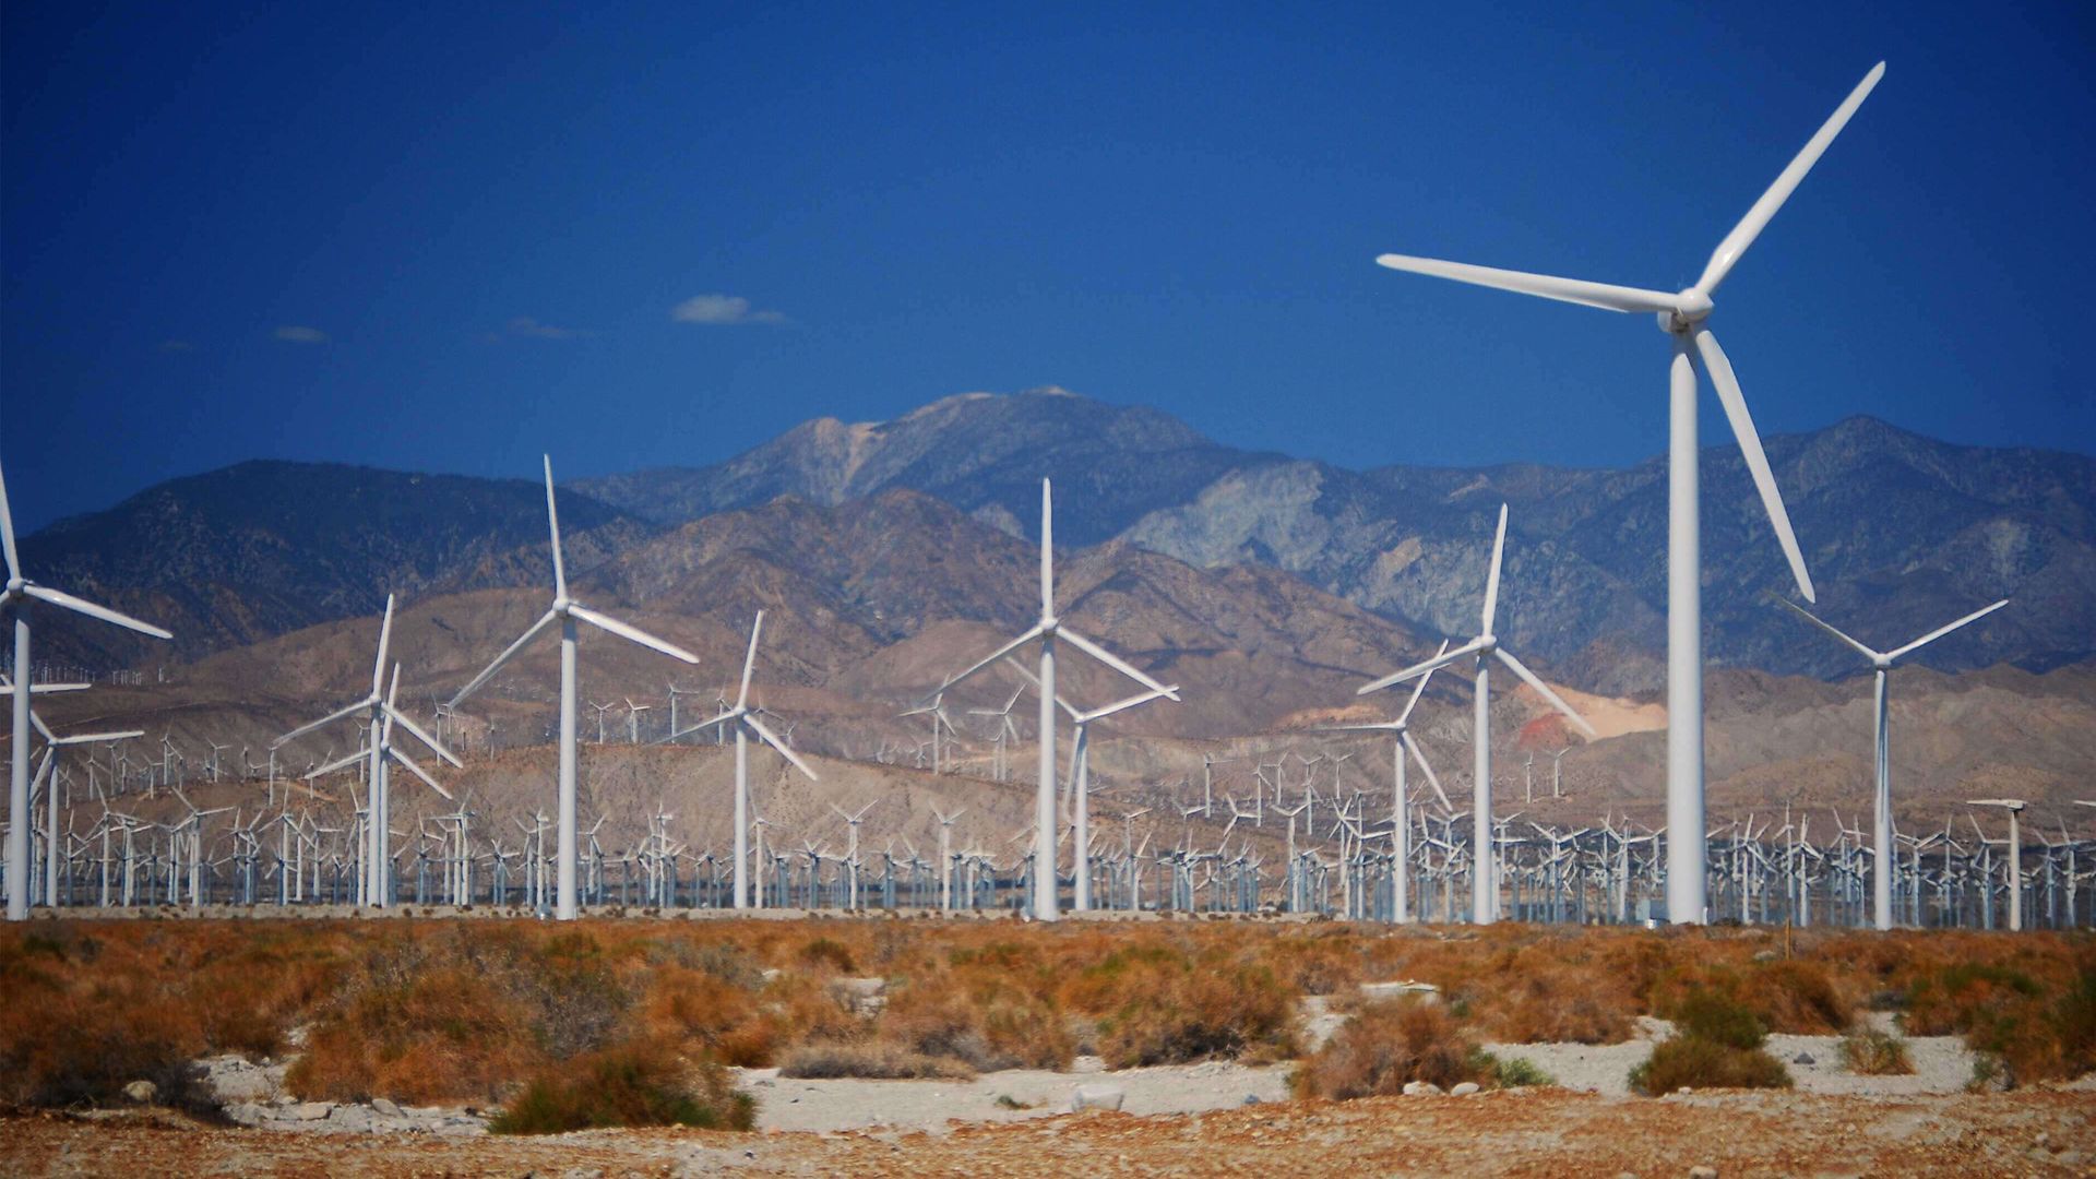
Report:
[[[2088,1175],[2092,978],[2058,934],[52,921],[0,931],[0,1171]],[[1712,994],[1784,1087],[1633,1089]],[[746,1129],[570,1085],[505,1133],[604,1062]]]

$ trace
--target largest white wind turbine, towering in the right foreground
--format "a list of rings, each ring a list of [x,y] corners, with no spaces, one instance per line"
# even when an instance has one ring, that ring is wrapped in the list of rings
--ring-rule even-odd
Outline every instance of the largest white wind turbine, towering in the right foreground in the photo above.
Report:
[[[1790,573],[1798,583],[1798,594],[1813,602],[1813,581],[1805,571],[1805,554],[1790,531],[1790,514],[1775,491],[1775,474],[1767,455],[1761,453],[1761,434],[1746,411],[1746,396],[1740,380],[1731,371],[1731,361],[1710,334],[1710,296],[1731,273],[1748,245],[1767,229],[1775,210],[1784,208],[1790,193],[1805,180],[1819,155],[1834,143],[1834,136],[1849,124],[1870,90],[1884,78],[1880,61],[1863,76],[1863,82],[1849,92],[1826,124],[1805,143],[1805,149],[1769,185],[1769,191],[1740,224],[1719,241],[1710,262],[1694,285],[1679,294],[1618,287],[1610,283],[1589,283],[1580,279],[1557,279],[1549,275],[1528,275],[1522,271],[1499,271],[1492,266],[1469,266],[1463,262],[1440,262],[1434,258],[1413,258],[1406,254],[1383,254],[1379,264],[1392,271],[1411,271],[1438,279],[1455,279],[1480,287],[1530,294],[1559,302],[1597,306],[1601,310],[1650,313],[1660,321],[1660,329],[1673,338],[1673,363],[1668,376],[1668,447],[1666,447],[1666,827],[1671,831],[1694,833],[1704,829],[1704,776],[1702,776],[1702,524],[1698,520],[1696,487],[1696,363],[1702,361],[1710,384],[1717,386],[1725,420],[1746,457],[1746,470],[1754,476],[1761,503],[1775,529],[1775,539],[1784,548]],[[1706,896],[1706,858],[1702,839],[1681,837],[1666,841],[1666,915],[1675,923],[1702,923]]]

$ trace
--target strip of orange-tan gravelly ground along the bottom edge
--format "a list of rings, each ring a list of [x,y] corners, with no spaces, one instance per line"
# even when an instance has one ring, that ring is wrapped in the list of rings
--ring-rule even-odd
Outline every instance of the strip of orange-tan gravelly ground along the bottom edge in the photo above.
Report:
[[[1564,1089],[1077,1114],[901,1131],[589,1131],[539,1139],[272,1135],[172,1114],[0,1120],[6,1175],[2088,1175],[2096,1097]]]

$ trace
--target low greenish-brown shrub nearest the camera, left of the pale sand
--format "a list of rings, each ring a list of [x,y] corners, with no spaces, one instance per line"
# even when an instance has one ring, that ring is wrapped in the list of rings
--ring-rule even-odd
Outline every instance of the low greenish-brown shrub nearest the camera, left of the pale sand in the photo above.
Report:
[[[543,1068],[488,1129],[549,1135],[599,1127],[746,1131],[757,1101],[715,1064],[687,1066],[667,1047],[627,1041]]]

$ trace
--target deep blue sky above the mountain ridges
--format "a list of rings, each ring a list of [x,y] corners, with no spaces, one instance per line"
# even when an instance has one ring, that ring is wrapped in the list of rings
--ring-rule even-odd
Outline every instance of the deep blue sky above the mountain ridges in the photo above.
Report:
[[[1685,285],[1878,59],[1719,298],[1763,430],[2096,449],[2088,4],[1136,8],[6,4],[19,520],[1038,384],[1348,466],[1629,464],[1650,321],[1375,254]]]

